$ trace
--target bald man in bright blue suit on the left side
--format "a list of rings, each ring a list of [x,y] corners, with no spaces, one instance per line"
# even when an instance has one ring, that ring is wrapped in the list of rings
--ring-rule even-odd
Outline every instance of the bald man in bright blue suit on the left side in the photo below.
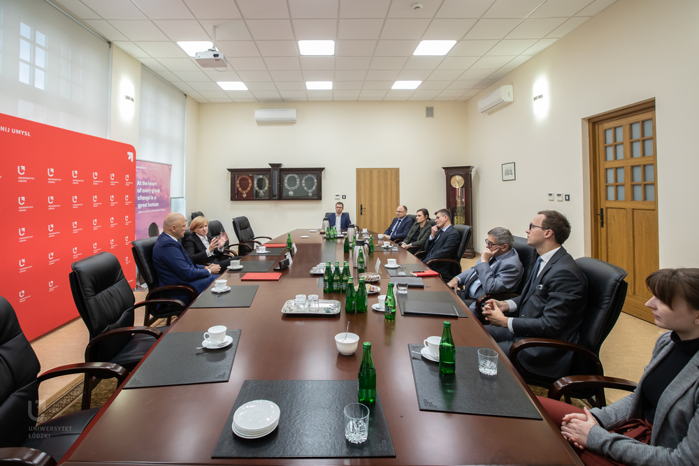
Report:
[[[185,248],[178,241],[185,235],[185,230],[187,220],[184,215],[170,212],[165,217],[163,233],[160,233],[153,247],[153,265],[158,272],[159,286],[189,285],[201,293],[216,279],[221,267],[217,264],[206,267],[196,265],[189,259]],[[168,298],[183,300],[185,303],[189,301],[187,295],[176,296],[175,293]]]

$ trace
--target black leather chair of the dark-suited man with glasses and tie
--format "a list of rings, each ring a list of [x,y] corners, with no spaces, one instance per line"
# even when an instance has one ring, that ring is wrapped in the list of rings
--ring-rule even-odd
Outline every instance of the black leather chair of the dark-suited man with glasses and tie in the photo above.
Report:
[[[604,368],[600,361],[600,348],[607,335],[612,331],[614,324],[617,323],[621,308],[624,307],[626,289],[628,288],[628,284],[624,280],[626,271],[617,265],[590,257],[581,257],[575,259],[575,262],[585,274],[588,282],[587,305],[580,326],[578,343],[535,337],[515,342],[510,349],[510,361],[528,384],[551,387],[556,381],[556,379],[527,372],[519,365],[517,361],[519,351],[532,347],[573,351],[575,355],[567,376],[604,375]],[[600,392],[597,387],[580,384],[577,387],[573,387],[569,394],[575,398],[587,398],[591,402],[603,402],[603,390]],[[602,394],[601,400],[600,393]],[[593,396],[597,398],[596,401],[592,400]]]

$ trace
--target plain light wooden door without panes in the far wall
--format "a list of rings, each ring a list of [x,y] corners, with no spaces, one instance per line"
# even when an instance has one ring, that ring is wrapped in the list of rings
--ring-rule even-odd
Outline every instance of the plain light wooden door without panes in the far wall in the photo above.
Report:
[[[399,168],[356,169],[356,220],[360,228],[383,233],[401,202]]]

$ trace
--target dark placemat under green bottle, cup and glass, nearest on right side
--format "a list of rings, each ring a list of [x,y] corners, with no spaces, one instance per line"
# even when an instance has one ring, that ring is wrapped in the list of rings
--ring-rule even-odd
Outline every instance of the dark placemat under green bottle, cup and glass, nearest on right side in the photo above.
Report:
[[[440,374],[438,363],[412,353],[422,348],[421,344],[408,344],[422,411],[542,418],[510,371],[501,367],[499,361],[496,375],[483,375],[478,371],[478,348],[456,347],[456,370],[448,375]]]

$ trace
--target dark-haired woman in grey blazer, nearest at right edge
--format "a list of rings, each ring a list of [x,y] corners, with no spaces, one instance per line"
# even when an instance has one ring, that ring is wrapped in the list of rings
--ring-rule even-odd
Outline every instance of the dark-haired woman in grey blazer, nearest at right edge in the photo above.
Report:
[[[699,465],[699,269],[657,270],[646,285],[646,307],[670,332],[635,391],[591,411],[539,397],[585,465]]]

